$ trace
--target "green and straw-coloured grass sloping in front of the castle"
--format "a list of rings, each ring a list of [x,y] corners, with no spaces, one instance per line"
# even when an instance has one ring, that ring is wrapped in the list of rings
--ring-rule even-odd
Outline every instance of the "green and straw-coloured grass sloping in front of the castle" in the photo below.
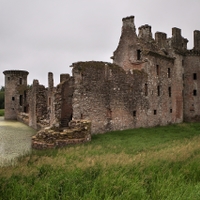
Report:
[[[0,168],[0,199],[200,199],[200,123],[94,135]]]

